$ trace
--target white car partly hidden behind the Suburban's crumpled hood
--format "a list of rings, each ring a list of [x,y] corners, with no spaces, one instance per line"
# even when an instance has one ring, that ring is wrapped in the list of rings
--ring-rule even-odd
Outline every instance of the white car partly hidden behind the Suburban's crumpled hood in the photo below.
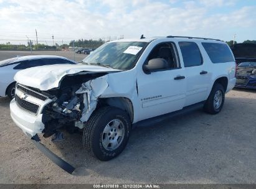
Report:
[[[50,55],[24,56],[0,61],[0,96],[14,98],[16,81],[14,81],[13,77],[17,71],[54,64],[77,64],[77,62],[65,57]]]

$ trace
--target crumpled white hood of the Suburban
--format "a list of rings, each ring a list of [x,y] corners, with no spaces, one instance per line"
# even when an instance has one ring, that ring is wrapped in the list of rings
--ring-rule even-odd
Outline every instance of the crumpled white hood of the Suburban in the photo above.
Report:
[[[87,71],[83,72],[83,74],[86,74],[100,72],[109,73],[120,70],[97,65],[45,65],[18,71],[14,76],[14,80],[22,85],[46,91],[58,87],[60,80],[62,80],[65,75],[73,75],[82,71]]]

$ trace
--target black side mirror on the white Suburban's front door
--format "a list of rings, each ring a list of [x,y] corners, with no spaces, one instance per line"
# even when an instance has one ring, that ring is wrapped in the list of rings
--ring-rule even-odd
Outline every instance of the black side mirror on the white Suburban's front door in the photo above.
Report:
[[[153,58],[149,60],[148,64],[143,65],[143,71],[150,74],[152,71],[164,70],[168,68],[168,62],[163,58]]]

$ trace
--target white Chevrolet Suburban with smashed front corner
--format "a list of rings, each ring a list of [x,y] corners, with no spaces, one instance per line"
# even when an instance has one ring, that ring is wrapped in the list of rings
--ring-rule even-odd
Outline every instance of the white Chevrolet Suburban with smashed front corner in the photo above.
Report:
[[[200,107],[219,113],[235,86],[235,59],[220,40],[141,37],[107,42],[83,65],[29,68],[14,79],[11,117],[35,144],[40,133],[83,129],[85,149],[110,160],[132,126]]]

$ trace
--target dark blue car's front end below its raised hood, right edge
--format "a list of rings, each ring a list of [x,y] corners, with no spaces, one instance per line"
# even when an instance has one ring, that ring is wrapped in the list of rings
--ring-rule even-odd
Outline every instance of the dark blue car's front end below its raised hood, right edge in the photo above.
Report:
[[[235,77],[235,87],[256,89],[256,62],[240,63]]]

